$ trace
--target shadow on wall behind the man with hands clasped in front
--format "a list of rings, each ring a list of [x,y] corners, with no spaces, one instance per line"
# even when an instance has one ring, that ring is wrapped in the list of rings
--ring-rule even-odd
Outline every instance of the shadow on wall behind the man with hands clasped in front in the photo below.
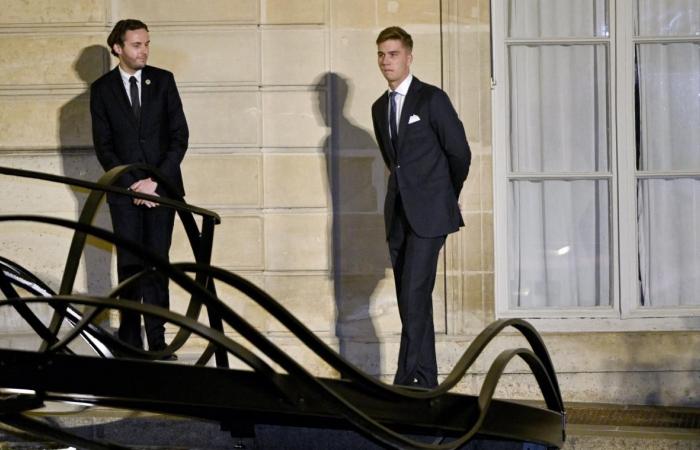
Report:
[[[104,173],[92,147],[89,85],[109,69],[110,58],[106,47],[91,45],[82,49],[73,63],[73,70],[85,82],[86,89],[63,105],[58,115],[59,152],[65,176],[97,181]],[[70,189],[75,197],[77,218],[89,191],[75,187]],[[94,225],[112,229],[104,204]],[[97,239],[88,238],[82,261],[88,293],[101,295],[109,292],[112,287],[111,262],[112,247]],[[76,285],[76,290],[81,291],[82,288]]]

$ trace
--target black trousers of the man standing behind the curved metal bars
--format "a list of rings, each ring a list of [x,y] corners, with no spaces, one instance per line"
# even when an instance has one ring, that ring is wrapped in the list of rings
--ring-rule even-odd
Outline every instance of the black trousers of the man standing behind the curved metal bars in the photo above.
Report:
[[[132,203],[110,203],[109,211],[112,217],[112,228],[117,236],[136,242],[168,260],[175,222],[173,209],[162,206],[147,208]],[[148,268],[147,264],[140,257],[123,248],[117,248],[117,275],[120,283],[146,268]],[[122,293],[120,298],[169,308],[168,278],[159,272],[150,272],[143,276],[133,288]],[[145,315],[144,324],[148,348],[150,350],[164,348],[165,321]],[[122,312],[119,338],[137,348],[143,348],[140,314]]]

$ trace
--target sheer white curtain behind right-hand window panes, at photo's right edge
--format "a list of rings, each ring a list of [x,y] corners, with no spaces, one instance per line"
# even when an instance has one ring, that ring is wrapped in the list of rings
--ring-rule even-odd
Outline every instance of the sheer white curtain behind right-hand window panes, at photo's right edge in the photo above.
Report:
[[[700,35],[699,0],[638,2],[641,37]],[[642,306],[700,305],[700,42],[636,46]],[[644,175],[663,172],[667,176]],[[669,174],[669,172],[671,172]]]

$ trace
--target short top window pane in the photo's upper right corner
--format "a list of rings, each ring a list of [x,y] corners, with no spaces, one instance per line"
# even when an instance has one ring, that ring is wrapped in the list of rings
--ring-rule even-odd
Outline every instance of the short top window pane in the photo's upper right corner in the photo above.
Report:
[[[637,0],[638,36],[700,36],[700,0]]]

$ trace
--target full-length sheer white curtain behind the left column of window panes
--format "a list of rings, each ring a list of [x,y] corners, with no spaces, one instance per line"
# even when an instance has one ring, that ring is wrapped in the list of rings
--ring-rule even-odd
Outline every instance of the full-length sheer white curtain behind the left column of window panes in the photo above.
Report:
[[[607,2],[512,0],[509,294],[512,308],[611,304]],[[586,175],[588,174],[588,175]]]

